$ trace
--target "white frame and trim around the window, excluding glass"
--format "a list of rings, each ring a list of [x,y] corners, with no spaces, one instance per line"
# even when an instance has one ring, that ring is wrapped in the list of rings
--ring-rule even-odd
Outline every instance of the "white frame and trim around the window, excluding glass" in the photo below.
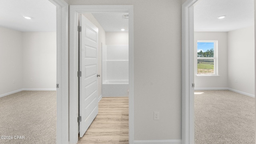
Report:
[[[218,40],[198,40],[197,42],[213,42],[214,43],[214,57],[213,58],[198,58],[197,53],[196,53],[196,61],[198,59],[205,59],[205,60],[210,60],[214,59],[214,74],[196,74],[196,76],[219,76],[218,75]],[[197,44],[196,44],[196,49],[197,49]],[[196,64],[196,71],[197,71],[197,62]]]

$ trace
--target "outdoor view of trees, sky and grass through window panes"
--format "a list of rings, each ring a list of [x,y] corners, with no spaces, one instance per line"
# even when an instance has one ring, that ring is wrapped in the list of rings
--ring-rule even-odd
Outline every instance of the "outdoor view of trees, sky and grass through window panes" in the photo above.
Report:
[[[214,42],[197,42],[197,74],[214,74]]]

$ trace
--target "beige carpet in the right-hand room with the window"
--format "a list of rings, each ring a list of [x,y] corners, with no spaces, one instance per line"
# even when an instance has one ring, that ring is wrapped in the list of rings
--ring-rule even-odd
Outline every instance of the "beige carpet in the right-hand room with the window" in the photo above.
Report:
[[[195,144],[254,144],[254,98],[229,90],[197,90]]]

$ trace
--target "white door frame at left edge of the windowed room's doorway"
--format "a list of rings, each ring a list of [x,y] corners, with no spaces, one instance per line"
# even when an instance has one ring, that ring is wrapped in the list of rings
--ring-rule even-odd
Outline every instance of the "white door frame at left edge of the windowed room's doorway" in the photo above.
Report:
[[[182,4],[182,144],[194,144],[194,6]]]

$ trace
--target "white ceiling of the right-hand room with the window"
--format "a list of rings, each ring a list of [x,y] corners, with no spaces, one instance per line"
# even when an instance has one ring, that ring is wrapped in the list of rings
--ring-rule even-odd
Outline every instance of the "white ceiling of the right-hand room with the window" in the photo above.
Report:
[[[202,0],[194,7],[196,32],[229,32],[252,25],[254,0]]]

